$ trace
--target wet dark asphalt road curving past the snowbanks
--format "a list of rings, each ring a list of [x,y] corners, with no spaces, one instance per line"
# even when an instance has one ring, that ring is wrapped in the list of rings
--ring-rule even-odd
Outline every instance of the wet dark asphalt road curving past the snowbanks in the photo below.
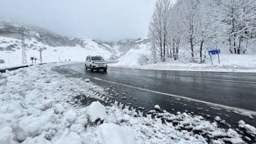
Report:
[[[187,112],[214,121],[216,116],[226,122],[223,128],[238,128],[238,121],[256,126],[255,116],[209,105],[204,102],[256,111],[256,75],[253,73],[213,73],[190,71],[155,71],[141,69],[109,68],[107,73],[86,71],[82,63],[59,66],[56,71],[66,76],[90,78],[109,92],[119,93],[118,101],[145,111],[158,104],[168,112]],[[161,92],[161,93],[155,93]],[[122,95],[125,93],[125,95]],[[195,100],[172,97],[179,95]],[[127,99],[123,99],[126,97]]]

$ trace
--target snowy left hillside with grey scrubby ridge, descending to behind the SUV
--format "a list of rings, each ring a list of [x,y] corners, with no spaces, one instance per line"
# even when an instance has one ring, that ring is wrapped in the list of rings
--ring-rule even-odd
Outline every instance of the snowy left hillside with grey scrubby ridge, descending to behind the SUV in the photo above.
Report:
[[[71,39],[41,28],[20,26],[13,23],[0,24],[0,67],[21,64],[21,30],[24,32],[28,62],[30,57],[39,59],[42,48],[44,62],[84,61],[88,55],[101,55],[108,59],[111,52],[91,39]]]

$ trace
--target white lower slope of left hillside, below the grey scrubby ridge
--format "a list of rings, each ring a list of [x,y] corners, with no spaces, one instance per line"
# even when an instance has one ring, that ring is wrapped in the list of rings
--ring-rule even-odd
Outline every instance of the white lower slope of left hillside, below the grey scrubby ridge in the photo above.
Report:
[[[13,64],[20,64],[21,40],[6,38],[2,36],[0,36],[0,40],[2,41],[0,48],[0,59],[4,59],[5,61],[5,63],[1,65],[11,66]],[[44,45],[35,39],[26,40],[26,44],[33,45],[30,49],[27,49],[27,59],[29,59],[29,57],[39,58],[38,50],[40,47],[44,48],[44,51],[42,52],[42,58],[44,62],[68,61],[68,59],[71,59],[71,61],[84,61],[88,55],[101,55],[106,59],[111,56],[111,52],[105,49],[101,49],[91,40],[87,40],[87,42],[87,47],[81,47],[80,45],[75,45],[73,47],[52,47],[49,45]]]

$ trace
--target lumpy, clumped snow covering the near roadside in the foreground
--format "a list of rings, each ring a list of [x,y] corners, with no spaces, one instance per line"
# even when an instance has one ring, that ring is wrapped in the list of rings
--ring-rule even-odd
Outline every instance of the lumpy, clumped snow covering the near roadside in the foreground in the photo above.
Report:
[[[88,79],[61,76],[52,71],[58,65],[0,73],[0,143],[244,143],[235,129],[219,128],[202,116],[159,113],[161,107],[155,105],[149,113],[169,121],[163,122],[132,108],[121,109],[118,102],[104,106],[104,88]],[[82,105],[78,97],[99,102]],[[255,136],[253,126],[239,124]]]

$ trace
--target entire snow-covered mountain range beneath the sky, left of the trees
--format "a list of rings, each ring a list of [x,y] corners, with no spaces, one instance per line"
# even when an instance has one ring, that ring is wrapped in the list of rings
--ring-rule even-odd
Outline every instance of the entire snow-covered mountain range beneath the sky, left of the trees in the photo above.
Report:
[[[87,38],[71,38],[39,27],[0,22],[0,67],[21,64],[21,33],[25,37],[27,59],[39,58],[42,48],[44,62],[85,61],[88,55],[101,55],[108,60],[118,60],[129,51],[149,48],[144,38],[106,42]],[[133,57],[137,61],[137,57]],[[133,62],[134,63],[134,62]]]

